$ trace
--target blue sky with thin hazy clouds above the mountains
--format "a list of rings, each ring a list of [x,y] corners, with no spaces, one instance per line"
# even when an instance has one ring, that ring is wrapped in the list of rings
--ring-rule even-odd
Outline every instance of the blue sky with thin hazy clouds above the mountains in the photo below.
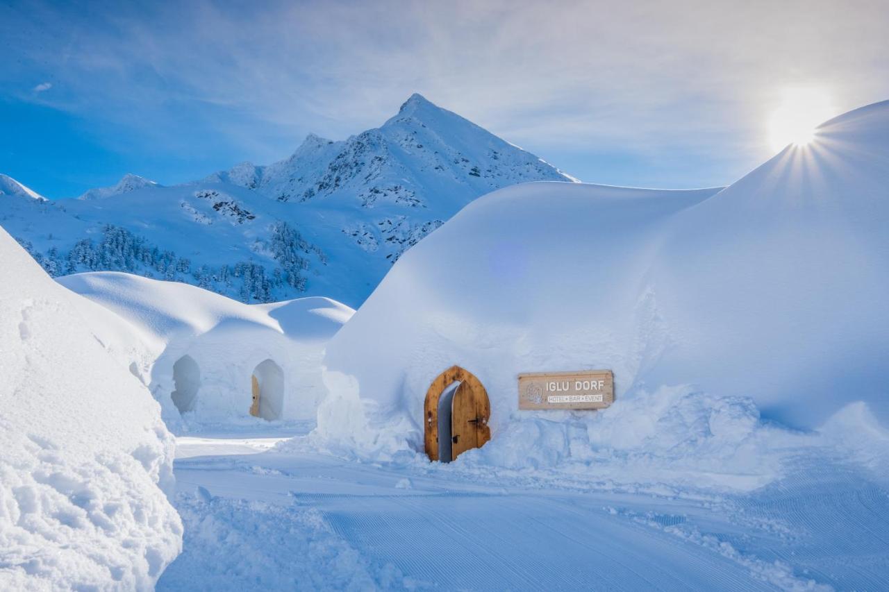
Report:
[[[49,197],[196,180],[420,92],[584,181],[715,187],[773,155],[799,89],[889,99],[887,30],[889,0],[3,0],[0,172]]]

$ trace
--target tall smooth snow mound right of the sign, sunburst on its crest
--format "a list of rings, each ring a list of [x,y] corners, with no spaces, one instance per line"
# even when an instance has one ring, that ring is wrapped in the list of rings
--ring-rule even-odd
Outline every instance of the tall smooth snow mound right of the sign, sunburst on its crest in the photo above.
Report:
[[[670,224],[648,280],[675,347],[639,378],[819,426],[889,422],[889,101],[822,124]]]

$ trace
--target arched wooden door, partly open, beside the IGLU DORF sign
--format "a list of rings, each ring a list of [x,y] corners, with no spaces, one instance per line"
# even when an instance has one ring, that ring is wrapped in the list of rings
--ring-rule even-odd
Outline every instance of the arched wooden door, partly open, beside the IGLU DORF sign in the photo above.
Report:
[[[450,405],[451,430],[450,434],[439,433],[439,410],[442,396],[449,396],[448,387],[459,383],[453,390],[453,402]],[[488,428],[488,420],[491,418],[491,402],[485,387],[476,378],[475,374],[464,370],[460,366],[451,366],[432,381],[426,393],[426,401],[423,404],[424,412],[424,442],[426,454],[429,460],[453,460],[462,452],[470,448],[478,448],[491,439],[491,428]],[[443,410],[442,412],[446,412]],[[444,430],[441,430],[444,431]],[[450,459],[441,458],[439,452],[446,452],[446,446],[439,449],[441,437],[450,436]]]

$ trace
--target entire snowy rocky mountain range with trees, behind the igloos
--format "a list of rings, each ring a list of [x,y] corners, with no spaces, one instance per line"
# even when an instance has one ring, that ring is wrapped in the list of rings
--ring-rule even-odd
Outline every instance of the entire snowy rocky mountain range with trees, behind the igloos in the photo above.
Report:
[[[53,276],[128,271],[245,302],[322,295],[354,307],[463,206],[529,180],[576,181],[414,94],[379,128],[340,141],[309,134],[274,164],[4,200],[0,225]]]

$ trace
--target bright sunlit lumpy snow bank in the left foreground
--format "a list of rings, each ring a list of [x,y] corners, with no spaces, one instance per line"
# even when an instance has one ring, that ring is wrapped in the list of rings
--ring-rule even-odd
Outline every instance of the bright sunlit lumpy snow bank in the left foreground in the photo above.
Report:
[[[158,405],[3,230],[0,256],[0,588],[151,588],[182,537]]]

